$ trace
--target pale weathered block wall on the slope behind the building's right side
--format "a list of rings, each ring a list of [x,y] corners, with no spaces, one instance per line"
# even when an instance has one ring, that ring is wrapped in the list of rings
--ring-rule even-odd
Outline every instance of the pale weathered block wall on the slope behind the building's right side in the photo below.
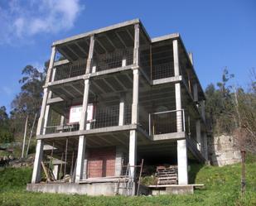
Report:
[[[235,148],[232,136],[208,138],[208,152],[211,165],[231,165],[241,161],[240,151]]]

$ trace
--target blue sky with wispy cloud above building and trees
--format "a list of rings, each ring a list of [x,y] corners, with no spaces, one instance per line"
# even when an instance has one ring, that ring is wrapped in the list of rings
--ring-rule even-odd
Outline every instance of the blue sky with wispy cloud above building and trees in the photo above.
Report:
[[[179,32],[202,87],[245,86],[256,66],[254,0],[0,0],[0,107],[11,110],[26,65],[42,69],[53,41],[139,18],[151,37]]]

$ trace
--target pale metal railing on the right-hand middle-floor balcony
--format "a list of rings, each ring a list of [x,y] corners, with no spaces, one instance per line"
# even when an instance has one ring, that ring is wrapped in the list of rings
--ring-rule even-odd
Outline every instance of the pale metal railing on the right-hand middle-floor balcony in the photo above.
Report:
[[[149,135],[185,132],[184,109],[150,113],[148,117]]]

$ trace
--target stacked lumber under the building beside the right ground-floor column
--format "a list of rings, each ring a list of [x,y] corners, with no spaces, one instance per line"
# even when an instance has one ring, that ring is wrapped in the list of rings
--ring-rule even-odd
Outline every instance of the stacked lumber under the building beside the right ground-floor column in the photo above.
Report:
[[[157,184],[177,184],[178,173],[177,167],[174,165],[170,166],[157,166],[156,171]]]

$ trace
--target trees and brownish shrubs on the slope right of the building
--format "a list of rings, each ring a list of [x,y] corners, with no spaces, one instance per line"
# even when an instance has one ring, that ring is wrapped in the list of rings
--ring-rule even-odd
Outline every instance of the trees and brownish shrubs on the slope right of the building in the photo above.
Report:
[[[256,154],[256,72],[251,71],[249,88],[229,84],[234,78],[224,69],[222,79],[205,89],[205,116],[214,135],[234,136],[240,150]]]

